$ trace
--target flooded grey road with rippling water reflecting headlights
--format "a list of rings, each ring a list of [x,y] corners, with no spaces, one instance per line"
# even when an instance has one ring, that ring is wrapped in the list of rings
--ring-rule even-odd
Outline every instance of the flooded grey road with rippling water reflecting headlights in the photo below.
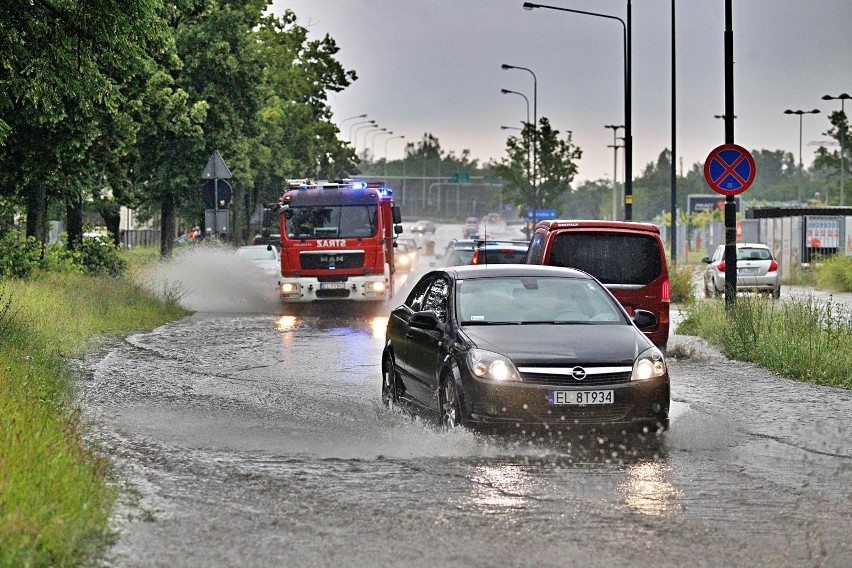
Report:
[[[381,405],[387,307],[289,313],[245,291],[81,362],[122,479],[111,566],[852,563],[849,391],[674,336],[659,438],[443,433]]]

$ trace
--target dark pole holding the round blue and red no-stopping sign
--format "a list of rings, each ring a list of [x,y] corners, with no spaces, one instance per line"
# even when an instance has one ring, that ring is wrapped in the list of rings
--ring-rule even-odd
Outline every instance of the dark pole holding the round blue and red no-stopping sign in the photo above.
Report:
[[[734,144],[734,30],[733,0],[725,0],[725,144]],[[725,196],[725,307],[736,304],[737,205]]]

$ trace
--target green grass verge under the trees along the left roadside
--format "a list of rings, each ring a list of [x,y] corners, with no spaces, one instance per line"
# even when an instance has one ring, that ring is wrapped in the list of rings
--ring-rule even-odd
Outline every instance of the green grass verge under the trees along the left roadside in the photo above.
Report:
[[[84,443],[66,358],[186,314],[125,279],[0,281],[0,566],[78,566],[110,544],[115,480]]]

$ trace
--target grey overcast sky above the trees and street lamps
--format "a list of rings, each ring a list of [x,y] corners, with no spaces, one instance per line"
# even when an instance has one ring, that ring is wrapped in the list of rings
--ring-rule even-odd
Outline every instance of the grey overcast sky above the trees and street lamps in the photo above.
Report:
[[[543,4],[626,19],[626,0],[551,0]],[[425,132],[441,147],[469,149],[481,162],[502,158],[512,131],[538,116],[583,150],[578,180],[611,179],[612,129],[624,124],[623,39],[616,20],[554,10],[524,10],[522,0],[276,0],[312,37],[331,35],[338,60],[358,74],[332,93],[338,123],[367,113],[404,135],[360,130],[359,151],[402,156]],[[633,0],[633,174],[671,148],[671,0]],[[724,143],[724,0],[677,2],[677,149],[684,170]],[[735,141],[749,150],[792,152],[799,117],[785,109],[819,109],[802,117],[802,157],[827,137],[828,114],[852,94],[852,0],[733,0]],[[527,67],[503,70],[507,63]],[[535,99],[535,100],[534,100]],[[537,105],[534,105],[537,102]],[[852,101],[846,105],[852,112]],[[352,125],[342,125],[344,139]],[[356,127],[358,128],[358,127]],[[619,131],[619,135],[624,132]],[[623,153],[619,152],[619,174]]]

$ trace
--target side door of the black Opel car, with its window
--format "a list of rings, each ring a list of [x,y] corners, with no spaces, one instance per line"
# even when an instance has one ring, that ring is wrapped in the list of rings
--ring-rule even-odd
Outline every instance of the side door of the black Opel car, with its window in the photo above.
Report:
[[[442,325],[449,314],[450,282],[440,275],[429,286],[421,310],[435,312]],[[411,384],[409,394],[420,404],[432,407],[438,392],[438,369],[443,360],[443,329],[422,329],[408,326],[405,335],[405,360]]]

